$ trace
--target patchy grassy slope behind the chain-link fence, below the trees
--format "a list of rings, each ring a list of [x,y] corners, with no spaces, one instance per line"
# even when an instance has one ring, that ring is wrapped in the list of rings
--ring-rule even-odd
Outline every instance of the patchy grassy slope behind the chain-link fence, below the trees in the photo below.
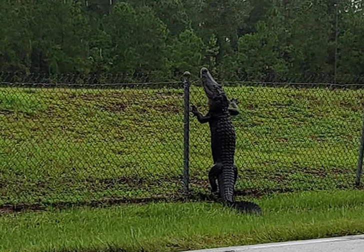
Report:
[[[236,188],[349,187],[363,91],[225,87],[240,100]],[[0,204],[179,195],[182,90],[0,88]],[[206,111],[199,87],[191,103]],[[193,191],[208,188],[208,125],[190,124]]]

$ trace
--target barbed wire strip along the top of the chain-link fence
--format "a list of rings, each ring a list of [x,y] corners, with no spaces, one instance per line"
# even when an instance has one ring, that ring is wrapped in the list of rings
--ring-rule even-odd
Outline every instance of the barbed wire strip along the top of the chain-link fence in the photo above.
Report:
[[[169,83],[181,81],[182,73],[171,74],[169,78],[160,79],[157,73],[42,73],[42,72],[4,72],[0,71],[0,82],[24,83],[82,83],[82,84],[134,84],[134,83]],[[198,81],[199,74],[193,73],[189,78]],[[327,83],[337,84],[364,84],[364,76],[350,74],[326,73],[272,73],[256,76],[254,74],[236,74],[228,77],[222,72],[215,74],[220,82],[259,82],[259,83]]]

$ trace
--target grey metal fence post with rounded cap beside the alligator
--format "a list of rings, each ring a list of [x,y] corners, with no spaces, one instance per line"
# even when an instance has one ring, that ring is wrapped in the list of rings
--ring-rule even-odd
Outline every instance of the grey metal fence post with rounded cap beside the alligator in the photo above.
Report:
[[[189,75],[188,71],[183,73],[184,92],[184,135],[183,135],[183,192],[188,194],[188,171],[189,171]]]

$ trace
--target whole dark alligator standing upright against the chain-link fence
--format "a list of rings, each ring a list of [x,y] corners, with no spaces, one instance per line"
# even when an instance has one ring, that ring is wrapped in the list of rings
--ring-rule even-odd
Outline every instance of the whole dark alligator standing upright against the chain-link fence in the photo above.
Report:
[[[211,76],[206,67],[200,69],[202,86],[208,100],[208,112],[202,115],[196,106],[191,112],[200,123],[208,122],[211,133],[211,151],[213,166],[208,172],[211,192],[216,193],[217,184],[219,199],[224,205],[240,212],[261,214],[261,208],[249,201],[234,201],[234,185],[237,178],[237,167],[234,163],[235,130],[231,115],[239,114],[238,100],[228,100],[222,86]]]

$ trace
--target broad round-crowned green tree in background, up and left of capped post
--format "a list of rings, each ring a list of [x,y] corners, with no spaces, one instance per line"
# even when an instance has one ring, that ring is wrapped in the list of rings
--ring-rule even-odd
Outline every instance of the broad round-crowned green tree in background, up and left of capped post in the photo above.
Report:
[[[103,26],[111,39],[111,46],[105,48],[105,57],[112,64],[110,71],[132,74],[165,70],[168,30],[150,7],[136,11],[119,2],[104,17]]]

